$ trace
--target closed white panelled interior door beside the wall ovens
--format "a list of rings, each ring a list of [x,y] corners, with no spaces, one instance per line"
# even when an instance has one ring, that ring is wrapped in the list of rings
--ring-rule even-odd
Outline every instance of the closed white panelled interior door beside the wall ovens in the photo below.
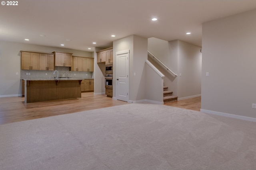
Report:
[[[117,100],[129,100],[129,50],[116,52],[117,58]]]

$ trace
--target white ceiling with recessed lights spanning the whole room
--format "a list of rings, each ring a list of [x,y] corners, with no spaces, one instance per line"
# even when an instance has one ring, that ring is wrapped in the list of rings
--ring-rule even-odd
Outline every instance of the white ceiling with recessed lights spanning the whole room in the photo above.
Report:
[[[202,23],[253,9],[256,0],[18,0],[0,5],[0,41],[94,51],[138,35],[201,46]]]

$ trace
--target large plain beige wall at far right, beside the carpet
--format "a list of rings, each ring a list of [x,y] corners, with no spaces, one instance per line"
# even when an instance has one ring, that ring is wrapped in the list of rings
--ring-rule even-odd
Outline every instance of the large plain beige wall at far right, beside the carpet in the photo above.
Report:
[[[256,118],[255,19],[253,10],[203,24],[203,111]]]

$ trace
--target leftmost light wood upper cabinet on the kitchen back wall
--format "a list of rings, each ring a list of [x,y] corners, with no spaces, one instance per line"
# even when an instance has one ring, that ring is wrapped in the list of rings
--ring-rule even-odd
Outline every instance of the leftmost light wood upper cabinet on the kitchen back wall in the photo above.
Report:
[[[21,51],[21,69],[39,70],[39,53]]]

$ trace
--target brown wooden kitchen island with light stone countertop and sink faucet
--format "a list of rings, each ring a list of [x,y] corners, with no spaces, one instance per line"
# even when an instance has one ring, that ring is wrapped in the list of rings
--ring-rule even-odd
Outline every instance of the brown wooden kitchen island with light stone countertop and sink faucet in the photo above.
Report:
[[[82,79],[74,78],[25,78],[26,103],[81,98]]]

